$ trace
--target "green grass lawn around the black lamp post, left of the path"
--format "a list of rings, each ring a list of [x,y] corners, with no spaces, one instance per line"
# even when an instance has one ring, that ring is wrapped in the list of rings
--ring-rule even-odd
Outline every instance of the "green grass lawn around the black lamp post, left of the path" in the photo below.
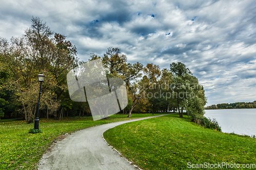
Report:
[[[132,114],[132,118],[147,116],[152,114]],[[0,169],[35,169],[42,154],[58,136],[128,119],[131,118],[123,114],[97,121],[93,121],[92,117],[68,117],[60,121],[40,118],[39,129],[42,133],[37,134],[28,133],[29,129],[34,128],[34,124],[26,124],[25,120],[0,120]]]

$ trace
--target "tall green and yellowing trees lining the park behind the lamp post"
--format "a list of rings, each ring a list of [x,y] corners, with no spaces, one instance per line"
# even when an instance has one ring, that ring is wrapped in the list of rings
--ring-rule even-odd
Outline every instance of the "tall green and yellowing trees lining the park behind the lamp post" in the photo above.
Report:
[[[67,73],[83,64],[75,45],[64,35],[54,33],[38,17],[22,37],[10,41],[0,38],[0,116],[34,119],[38,98],[37,75],[46,76],[42,84],[40,117],[91,115],[87,102],[70,100]],[[183,110],[188,115],[203,115],[206,98],[203,86],[183,63],[172,63],[160,69],[153,63],[143,66],[127,62],[120,48],[110,47],[103,56],[91,54],[90,60],[101,59],[107,77],[124,80],[129,104],[122,113],[167,112]]]

